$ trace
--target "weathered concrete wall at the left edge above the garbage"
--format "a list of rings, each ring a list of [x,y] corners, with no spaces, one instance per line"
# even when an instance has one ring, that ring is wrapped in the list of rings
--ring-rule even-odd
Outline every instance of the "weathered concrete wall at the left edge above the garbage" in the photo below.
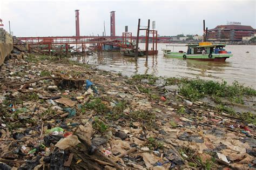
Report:
[[[0,28],[0,66],[4,63],[4,59],[14,49],[12,36],[3,28]]]

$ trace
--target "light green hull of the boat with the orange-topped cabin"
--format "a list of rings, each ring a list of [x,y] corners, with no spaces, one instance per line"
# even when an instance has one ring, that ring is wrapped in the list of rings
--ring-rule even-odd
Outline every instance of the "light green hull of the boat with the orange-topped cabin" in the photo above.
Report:
[[[210,58],[208,56],[208,54],[206,54],[206,55],[186,55],[186,53],[173,52],[173,53],[164,53],[164,56],[169,57],[169,58],[196,59],[196,60],[204,60],[204,61],[224,62],[227,58],[230,58],[233,55],[230,53],[212,54],[212,57]]]

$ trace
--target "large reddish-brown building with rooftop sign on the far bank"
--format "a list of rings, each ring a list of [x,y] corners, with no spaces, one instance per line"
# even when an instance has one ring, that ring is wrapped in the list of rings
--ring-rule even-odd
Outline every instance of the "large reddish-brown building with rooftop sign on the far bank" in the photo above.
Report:
[[[207,32],[207,40],[241,41],[242,37],[252,37],[256,29],[246,25],[218,25]]]

